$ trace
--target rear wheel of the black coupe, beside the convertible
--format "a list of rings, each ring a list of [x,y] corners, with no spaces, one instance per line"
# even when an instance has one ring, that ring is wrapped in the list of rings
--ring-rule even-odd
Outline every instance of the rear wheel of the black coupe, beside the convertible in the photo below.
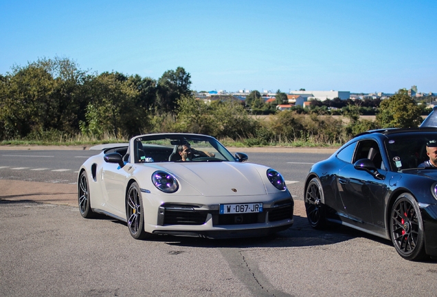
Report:
[[[322,229],[326,227],[324,201],[322,183],[317,177],[314,177],[305,191],[306,217],[313,228]]]

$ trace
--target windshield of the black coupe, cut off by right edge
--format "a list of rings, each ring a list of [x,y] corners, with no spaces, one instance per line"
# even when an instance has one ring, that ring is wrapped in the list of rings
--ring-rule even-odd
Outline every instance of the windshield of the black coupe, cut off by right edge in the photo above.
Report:
[[[430,140],[437,140],[436,132],[389,135],[385,140],[385,148],[392,170],[418,168],[420,164],[429,160],[426,144]]]

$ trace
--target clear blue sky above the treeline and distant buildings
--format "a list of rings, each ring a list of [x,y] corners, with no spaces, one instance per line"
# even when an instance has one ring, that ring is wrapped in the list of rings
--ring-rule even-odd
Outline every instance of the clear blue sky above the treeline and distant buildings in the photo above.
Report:
[[[0,74],[41,58],[195,91],[437,93],[437,1],[0,0]]]

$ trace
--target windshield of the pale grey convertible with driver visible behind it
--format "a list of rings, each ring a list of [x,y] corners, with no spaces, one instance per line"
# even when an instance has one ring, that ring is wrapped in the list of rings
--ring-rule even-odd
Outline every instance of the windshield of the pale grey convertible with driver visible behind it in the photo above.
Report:
[[[220,142],[205,135],[143,135],[133,144],[135,163],[235,161]]]

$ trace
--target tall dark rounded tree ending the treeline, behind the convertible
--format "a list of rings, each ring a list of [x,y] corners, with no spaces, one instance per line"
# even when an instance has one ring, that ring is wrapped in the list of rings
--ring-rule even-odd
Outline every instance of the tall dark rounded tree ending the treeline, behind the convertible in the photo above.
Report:
[[[157,103],[159,109],[173,112],[177,108],[177,100],[182,96],[190,96],[191,76],[183,67],[175,71],[167,70],[159,78],[157,84]]]

